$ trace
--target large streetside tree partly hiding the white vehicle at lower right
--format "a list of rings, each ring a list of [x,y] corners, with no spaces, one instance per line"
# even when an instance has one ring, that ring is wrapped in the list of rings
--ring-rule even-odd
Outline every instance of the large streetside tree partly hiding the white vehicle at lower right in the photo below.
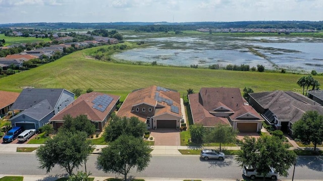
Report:
[[[249,165],[256,169],[258,176],[263,176],[263,180],[271,168],[286,177],[288,169],[296,162],[295,152],[289,151],[288,147],[288,144],[276,136],[263,136],[258,139],[245,137],[236,161],[240,166]]]

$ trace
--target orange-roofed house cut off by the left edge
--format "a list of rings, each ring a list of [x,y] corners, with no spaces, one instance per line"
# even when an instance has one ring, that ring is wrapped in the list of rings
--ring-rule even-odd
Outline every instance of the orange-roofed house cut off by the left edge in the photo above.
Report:
[[[9,109],[15,103],[19,93],[0,91],[0,119],[8,115]]]

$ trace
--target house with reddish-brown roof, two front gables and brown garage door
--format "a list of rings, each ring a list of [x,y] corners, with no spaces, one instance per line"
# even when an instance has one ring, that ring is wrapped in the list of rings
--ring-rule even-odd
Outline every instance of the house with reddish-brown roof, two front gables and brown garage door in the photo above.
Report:
[[[194,124],[230,125],[240,132],[260,132],[263,119],[242,98],[239,88],[203,87],[188,95]]]

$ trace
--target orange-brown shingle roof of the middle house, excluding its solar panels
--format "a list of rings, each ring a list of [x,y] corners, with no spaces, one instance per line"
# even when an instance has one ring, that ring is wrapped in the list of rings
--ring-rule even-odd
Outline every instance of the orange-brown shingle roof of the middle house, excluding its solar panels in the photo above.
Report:
[[[161,102],[161,103],[157,102],[155,100],[156,93],[159,94],[159,97],[172,100],[173,106],[177,106],[179,108],[179,113],[177,114],[172,112],[171,106],[166,104],[165,102]],[[123,102],[121,108],[119,109],[117,116],[128,117],[128,118],[135,116],[135,117],[138,117],[139,120],[145,122],[147,119],[147,116],[132,112],[132,107],[134,105],[147,104],[147,105],[154,106],[155,108],[157,107],[155,109],[154,116],[168,113],[171,115],[182,117],[180,99],[181,99],[180,93],[175,91],[170,91],[170,90],[167,92],[157,91],[157,86],[152,85],[150,87],[138,89],[130,93],[127,96],[126,100]]]

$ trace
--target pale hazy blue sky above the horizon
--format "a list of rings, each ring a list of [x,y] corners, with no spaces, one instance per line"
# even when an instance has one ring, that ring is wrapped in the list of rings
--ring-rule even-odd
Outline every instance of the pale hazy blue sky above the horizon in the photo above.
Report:
[[[0,24],[323,21],[323,0],[0,0]]]

